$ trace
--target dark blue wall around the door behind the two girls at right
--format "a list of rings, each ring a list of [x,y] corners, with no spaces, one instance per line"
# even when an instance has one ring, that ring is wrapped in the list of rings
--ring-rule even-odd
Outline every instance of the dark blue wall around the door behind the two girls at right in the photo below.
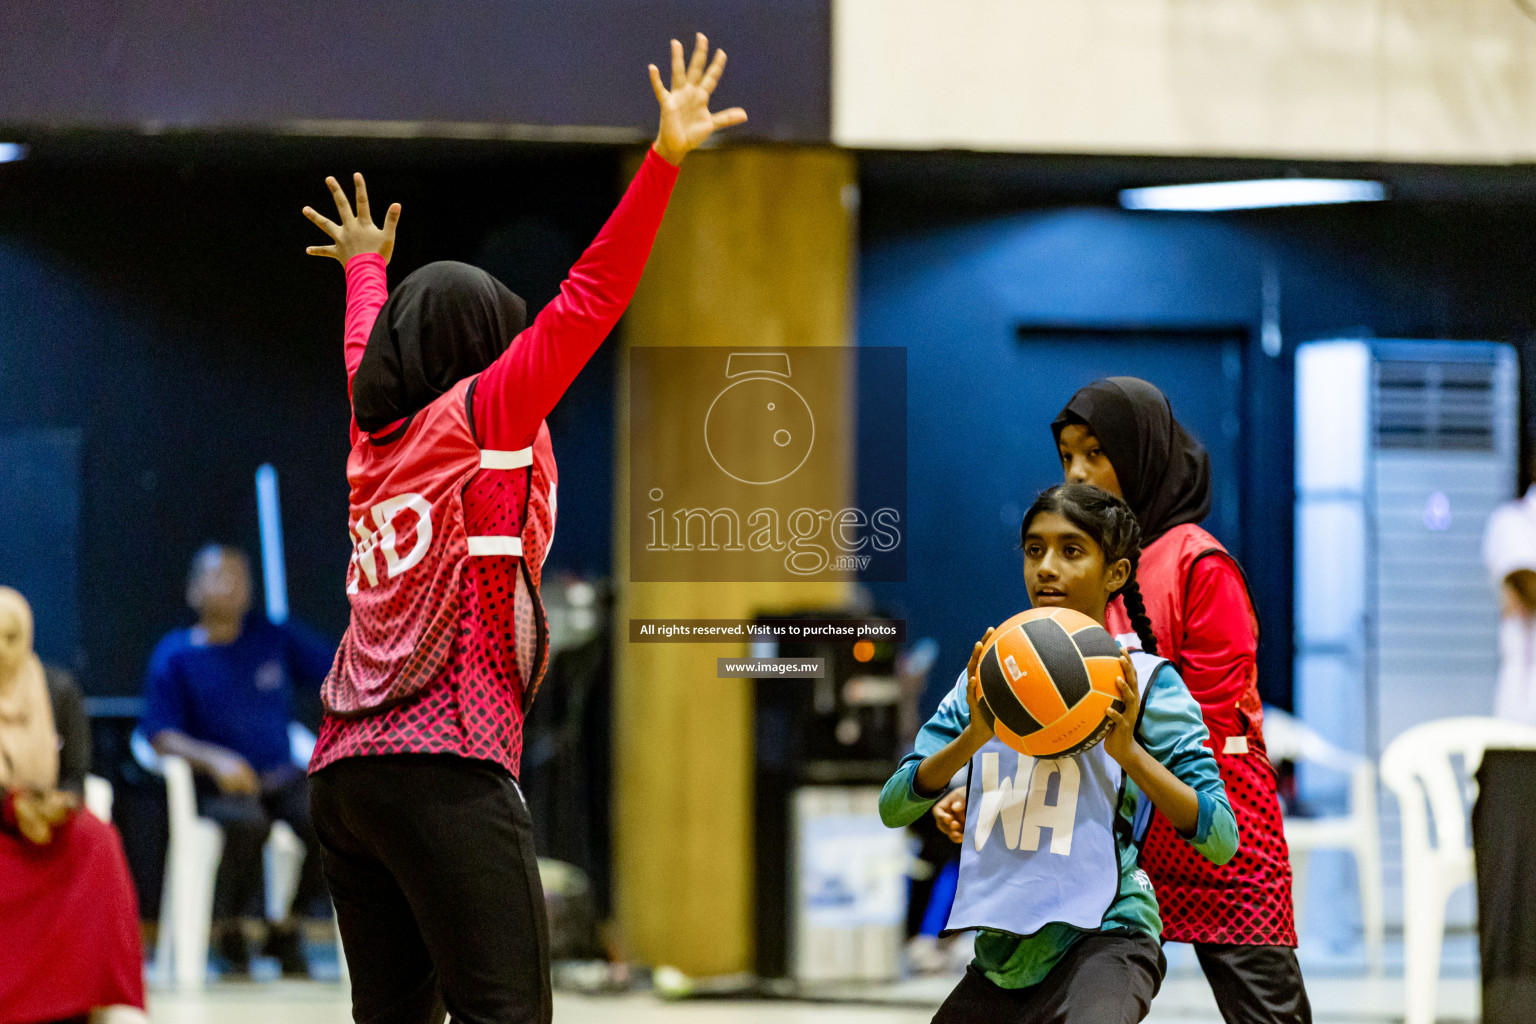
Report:
[[[1293,345],[1361,333],[1522,341],[1536,329],[1528,207],[1387,203],[1167,215],[1041,206],[982,216],[969,197],[962,215],[946,218],[934,215],[932,190],[922,209],[911,200],[865,183],[859,341],[908,347],[908,582],[871,590],[905,614],[908,636],[940,640],[929,708],[972,640],[1028,605],[1017,514],[1058,481],[1049,422],[1077,387],[1112,370],[1100,347],[1080,373],[1063,373],[1058,358],[1034,358],[1020,327],[1247,335],[1238,554],[1263,619],[1261,688],[1283,705],[1290,702]],[[1260,350],[1266,261],[1283,289],[1279,358]],[[1144,365],[1146,352],[1135,356]],[[1163,372],[1183,365],[1170,356]],[[1178,385],[1207,387],[1212,401],[1226,387],[1221,379]]]

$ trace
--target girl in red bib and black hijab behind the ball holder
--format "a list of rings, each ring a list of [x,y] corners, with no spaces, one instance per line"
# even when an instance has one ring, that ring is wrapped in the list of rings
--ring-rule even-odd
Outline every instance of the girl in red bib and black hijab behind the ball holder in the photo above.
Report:
[[[1258,697],[1258,617],[1221,542],[1200,528],[1210,511],[1210,457],[1167,398],[1138,378],[1095,381],[1051,425],[1068,482],[1123,496],[1146,537],[1137,579],[1157,654],[1178,674],[1210,731],[1243,846],[1227,864],[1189,852],[1154,815],[1141,847],[1163,910],[1163,938],[1193,943],[1229,1024],[1310,1024],[1296,964],[1290,860]],[[1117,602],[1109,631],[1132,633]]]

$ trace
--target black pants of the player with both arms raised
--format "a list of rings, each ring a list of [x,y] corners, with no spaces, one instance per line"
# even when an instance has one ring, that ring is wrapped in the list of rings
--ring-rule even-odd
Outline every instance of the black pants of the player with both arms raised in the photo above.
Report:
[[[547,1024],[548,924],[516,781],[452,755],[310,778],[358,1024]]]

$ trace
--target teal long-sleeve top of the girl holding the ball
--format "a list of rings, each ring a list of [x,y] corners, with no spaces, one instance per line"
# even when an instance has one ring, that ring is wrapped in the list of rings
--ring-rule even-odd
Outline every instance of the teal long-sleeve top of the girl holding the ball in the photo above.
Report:
[[[1238,824],[1232,817],[1232,804],[1227,803],[1217,758],[1206,746],[1209,732],[1200,705],[1189,695],[1184,680],[1174,666],[1163,665],[1147,685],[1141,706],[1137,740],[1193,789],[1200,800],[1195,834],[1186,838],[1207,860],[1217,864],[1227,863],[1238,852]],[[971,705],[966,702],[966,679],[962,674],[954,689],[940,702],[938,711],[919,732],[915,749],[902,760],[880,792],[882,821],[891,827],[902,827],[928,814],[943,794],[928,795],[917,791],[917,766],[925,757],[938,752],[958,737],[969,722]],[[1135,820],[1141,800],[1141,791],[1126,778],[1118,815],[1127,824]],[[1129,834],[1129,829],[1124,832]],[[1121,831],[1117,829],[1115,835],[1120,837]],[[1098,930],[1146,932],[1157,938],[1163,933],[1163,920],[1158,917],[1152,881],[1137,867],[1140,849],[1123,840],[1117,841],[1120,895],[1104,913],[1104,923]],[[1040,984],[1072,944],[1087,933],[1064,923],[1048,924],[1034,935],[982,929],[977,933],[972,964],[1003,989],[1028,989]]]

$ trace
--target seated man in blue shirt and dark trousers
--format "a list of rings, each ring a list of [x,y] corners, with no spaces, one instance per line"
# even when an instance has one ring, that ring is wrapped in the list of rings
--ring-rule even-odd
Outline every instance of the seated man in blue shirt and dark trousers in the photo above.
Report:
[[[214,890],[214,949],[227,969],[249,967],[240,929],[261,894],[261,847],[275,818],[292,826],[307,855],[293,906],[324,897],[309,783],[289,743],[295,686],[319,688],[335,654],[309,629],[269,623],[250,611],[250,565],[238,548],[209,543],[192,559],[187,605],[197,625],[167,634],[149,660],[141,732],[161,754],[192,763],[198,814],[224,829]],[[298,927],[272,927],[266,952],[284,973],[307,973]]]

